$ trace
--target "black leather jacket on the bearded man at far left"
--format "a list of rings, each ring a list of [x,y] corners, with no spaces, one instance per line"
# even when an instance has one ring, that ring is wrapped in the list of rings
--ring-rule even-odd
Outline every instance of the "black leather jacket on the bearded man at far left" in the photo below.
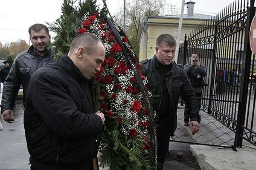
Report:
[[[35,52],[33,45],[28,51],[17,55],[3,85],[1,113],[7,109],[13,110],[21,84],[23,87],[23,103],[25,102],[30,77],[38,68],[53,60],[52,48],[47,51],[47,54],[41,57]]]

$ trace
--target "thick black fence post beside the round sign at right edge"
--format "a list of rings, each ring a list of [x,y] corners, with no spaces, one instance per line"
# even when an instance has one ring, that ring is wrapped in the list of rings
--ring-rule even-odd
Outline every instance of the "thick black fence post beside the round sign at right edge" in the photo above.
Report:
[[[250,74],[250,62],[252,51],[250,49],[250,26],[255,15],[254,0],[250,0],[250,7],[247,8],[247,20],[244,37],[244,56],[243,65],[241,70],[241,86],[239,94],[239,105],[236,125],[236,136],[235,136],[235,147],[241,147],[243,142],[243,126],[245,120],[247,94],[248,94],[248,83]]]

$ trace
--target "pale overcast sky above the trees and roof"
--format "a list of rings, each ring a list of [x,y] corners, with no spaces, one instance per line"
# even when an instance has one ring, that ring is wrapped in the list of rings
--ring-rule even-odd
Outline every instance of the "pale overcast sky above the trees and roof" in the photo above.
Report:
[[[180,12],[182,0],[166,0]],[[185,0],[185,3],[189,0]],[[194,13],[215,15],[234,0],[192,0]],[[63,0],[0,0],[0,42],[26,40],[29,44],[28,28],[35,23],[52,23],[61,15]],[[97,1],[100,5],[102,0]],[[111,15],[123,8],[124,0],[106,0]],[[126,0],[128,2],[128,0]],[[167,10],[168,12],[168,10]],[[185,12],[186,14],[186,7]],[[54,33],[50,32],[52,37]]]

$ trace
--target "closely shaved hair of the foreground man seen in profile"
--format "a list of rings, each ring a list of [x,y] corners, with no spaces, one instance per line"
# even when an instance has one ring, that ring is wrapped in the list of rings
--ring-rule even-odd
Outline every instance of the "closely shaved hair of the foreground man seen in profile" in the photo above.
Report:
[[[73,53],[74,50],[79,48],[80,46],[84,47],[86,54],[90,55],[96,51],[97,44],[101,42],[105,47],[103,42],[91,33],[82,33],[78,34],[70,44],[70,53]]]

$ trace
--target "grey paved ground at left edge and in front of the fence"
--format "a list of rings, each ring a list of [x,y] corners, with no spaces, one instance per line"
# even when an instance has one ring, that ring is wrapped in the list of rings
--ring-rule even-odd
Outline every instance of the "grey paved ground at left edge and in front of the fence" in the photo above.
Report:
[[[0,170],[29,170],[21,100],[16,104],[15,122],[8,124],[3,121],[2,116],[0,121],[4,127],[0,131]],[[246,142],[243,143],[249,146]],[[236,149],[237,152],[231,148],[170,142],[164,170],[256,170],[256,147]],[[177,152],[183,153],[182,161],[176,160]]]

